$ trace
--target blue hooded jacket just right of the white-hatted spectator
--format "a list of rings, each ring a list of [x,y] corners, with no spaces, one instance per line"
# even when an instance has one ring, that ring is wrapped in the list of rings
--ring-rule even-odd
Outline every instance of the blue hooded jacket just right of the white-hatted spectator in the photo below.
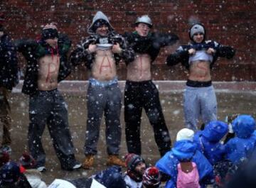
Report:
[[[228,125],[222,121],[210,121],[203,131],[198,131],[193,140],[198,150],[206,156],[210,164],[225,159],[225,146],[220,139],[228,133]]]

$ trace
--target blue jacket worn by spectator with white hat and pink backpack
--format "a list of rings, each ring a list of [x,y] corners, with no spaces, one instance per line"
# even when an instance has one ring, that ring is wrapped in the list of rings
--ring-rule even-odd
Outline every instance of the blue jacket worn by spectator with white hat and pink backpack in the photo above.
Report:
[[[171,177],[171,179],[166,182],[166,188],[176,187],[178,176],[177,166],[180,161],[195,162],[200,180],[213,178],[213,167],[206,157],[197,150],[196,144],[190,140],[180,140],[174,144],[174,148],[172,148],[171,151],[156,162],[156,167],[158,167],[161,172]],[[201,186],[203,187],[203,182],[201,182]]]

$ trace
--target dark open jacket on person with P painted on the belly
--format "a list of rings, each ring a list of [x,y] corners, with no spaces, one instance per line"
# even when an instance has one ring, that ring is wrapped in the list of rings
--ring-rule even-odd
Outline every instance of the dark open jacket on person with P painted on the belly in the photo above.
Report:
[[[59,34],[58,52],[53,49],[45,41],[40,40],[18,40],[16,47],[18,52],[22,52],[27,60],[26,72],[22,92],[24,94],[33,95],[38,91],[38,60],[44,55],[59,54],[60,69],[58,72],[58,82],[68,77],[71,67],[68,62],[67,52],[70,49],[71,41],[67,35]]]

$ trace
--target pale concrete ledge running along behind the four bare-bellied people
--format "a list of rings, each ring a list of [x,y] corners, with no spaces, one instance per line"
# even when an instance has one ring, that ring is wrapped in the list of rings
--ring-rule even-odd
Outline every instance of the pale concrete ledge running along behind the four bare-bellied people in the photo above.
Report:
[[[161,94],[170,92],[183,92],[186,81],[154,81]],[[14,93],[20,93],[23,80],[13,89]],[[65,93],[84,93],[87,90],[88,81],[83,80],[65,80],[60,82],[59,89]],[[124,91],[125,81],[119,81],[119,86]],[[215,92],[250,92],[256,95],[256,82],[213,82]]]

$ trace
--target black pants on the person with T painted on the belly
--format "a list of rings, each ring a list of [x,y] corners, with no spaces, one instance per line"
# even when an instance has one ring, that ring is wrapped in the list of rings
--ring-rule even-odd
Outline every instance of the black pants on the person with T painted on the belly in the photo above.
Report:
[[[171,138],[164,121],[159,101],[159,92],[149,80],[144,82],[127,81],[124,91],[124,121],[127,149],[129,153],[142,154],[140,124],[142,108],[154,129],[154,138],[161,156],[171,150]]]

